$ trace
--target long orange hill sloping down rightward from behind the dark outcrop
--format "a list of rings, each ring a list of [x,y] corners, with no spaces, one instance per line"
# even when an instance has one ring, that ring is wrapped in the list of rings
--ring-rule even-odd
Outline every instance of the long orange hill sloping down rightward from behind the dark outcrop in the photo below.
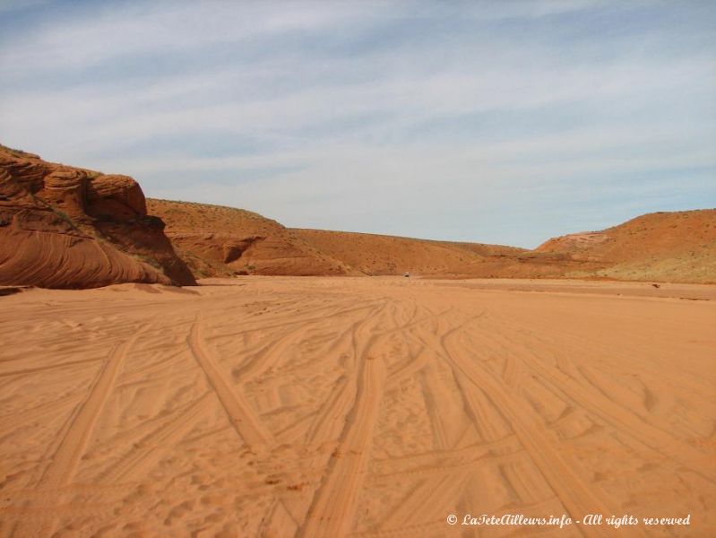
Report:
[[[246,210],[148,199],[177,254],[201,277],[230,274],[421,276],[554,275],[516,259],[522,248],[345,231],[289,229]],[[544,268],[548,267],[548,270]]]

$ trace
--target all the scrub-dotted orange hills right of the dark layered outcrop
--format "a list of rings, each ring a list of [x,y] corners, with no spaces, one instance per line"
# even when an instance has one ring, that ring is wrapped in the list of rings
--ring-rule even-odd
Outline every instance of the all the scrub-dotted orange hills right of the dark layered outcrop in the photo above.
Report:
[[[716,210],[651,213],[534,250],[367,233],[289,229],[245,210],[148,200],[198,276],[405,272],[442,278],[608,278],[716,282]]]

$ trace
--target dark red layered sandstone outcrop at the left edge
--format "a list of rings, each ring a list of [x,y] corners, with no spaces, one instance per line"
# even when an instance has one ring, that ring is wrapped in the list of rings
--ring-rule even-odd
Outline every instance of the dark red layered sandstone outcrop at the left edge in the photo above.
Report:
[[[193,284],[133,178],[0,146],[0,285]]]

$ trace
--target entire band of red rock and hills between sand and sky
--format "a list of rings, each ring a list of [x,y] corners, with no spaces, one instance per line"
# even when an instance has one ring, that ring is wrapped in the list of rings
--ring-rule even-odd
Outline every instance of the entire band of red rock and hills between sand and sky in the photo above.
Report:
[[[145,200],[133,178],[0,146],[0,285],[405,273],[716,283],[716,210],[650,213],[608,230],[549,239],[534,250],[290,229],[243,209]]]

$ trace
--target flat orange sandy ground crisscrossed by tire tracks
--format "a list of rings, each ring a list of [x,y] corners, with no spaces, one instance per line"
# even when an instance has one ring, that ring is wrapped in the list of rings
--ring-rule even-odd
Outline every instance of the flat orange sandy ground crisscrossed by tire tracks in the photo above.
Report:
[[[0,534],[716,535],[714,287],[203,284],[0,297]]]

